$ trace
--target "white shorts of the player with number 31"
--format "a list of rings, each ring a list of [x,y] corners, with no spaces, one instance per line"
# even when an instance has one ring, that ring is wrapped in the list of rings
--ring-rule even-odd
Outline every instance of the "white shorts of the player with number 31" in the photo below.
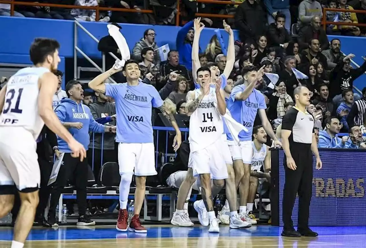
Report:
[[[0,128],[0,185],[15,185],[33,192],[41,183],[41,172],[33,135],[23,127]]]

